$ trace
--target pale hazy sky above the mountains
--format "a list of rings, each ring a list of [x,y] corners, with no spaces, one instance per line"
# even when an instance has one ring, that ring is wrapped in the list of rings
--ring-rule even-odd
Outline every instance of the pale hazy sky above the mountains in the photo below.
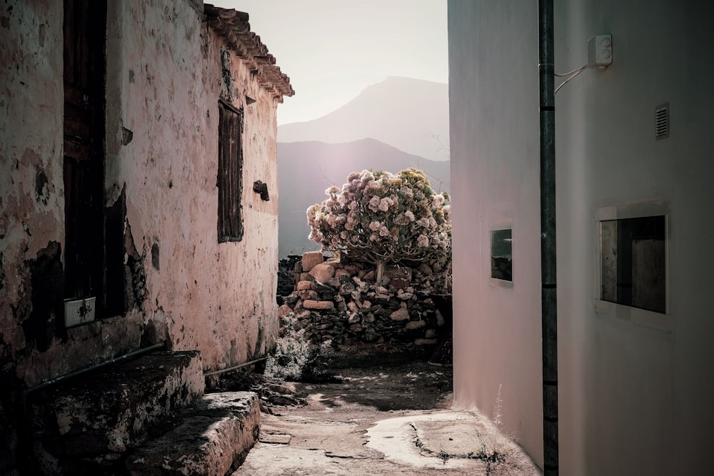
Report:
[[[446,83],[446,0],[208,0],[250,14],[296,91],[278,124],[309,121],[387,76]]]

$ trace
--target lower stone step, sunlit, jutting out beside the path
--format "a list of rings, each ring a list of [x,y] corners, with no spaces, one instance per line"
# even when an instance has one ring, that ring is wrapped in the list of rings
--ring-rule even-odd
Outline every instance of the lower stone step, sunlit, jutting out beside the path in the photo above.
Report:
[[[126,459],[131,476],[225,476],[245,460],[260,434],[253,392],[204,395],[180,415],[173,430],[146,442]]]

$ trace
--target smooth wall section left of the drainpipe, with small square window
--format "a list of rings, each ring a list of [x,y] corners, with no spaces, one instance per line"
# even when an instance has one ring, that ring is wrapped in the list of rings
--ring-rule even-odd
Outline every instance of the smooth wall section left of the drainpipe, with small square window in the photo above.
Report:
[[[523,18],[535,2],[449,4],[454,397],[493,416],[501,388],[506,430],[540,460],[538,44]],[[490,231],[507,223],[513,288],[490,279]]]

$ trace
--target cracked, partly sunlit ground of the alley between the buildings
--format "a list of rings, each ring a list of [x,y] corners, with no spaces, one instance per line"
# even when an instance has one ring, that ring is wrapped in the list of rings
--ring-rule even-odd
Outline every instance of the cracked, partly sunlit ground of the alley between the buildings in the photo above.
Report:
[[[336,378],[263,388],[261,436],[233,476],[539,475],[491,417],[451,410],[452,369],[420,348],[343,349]]]

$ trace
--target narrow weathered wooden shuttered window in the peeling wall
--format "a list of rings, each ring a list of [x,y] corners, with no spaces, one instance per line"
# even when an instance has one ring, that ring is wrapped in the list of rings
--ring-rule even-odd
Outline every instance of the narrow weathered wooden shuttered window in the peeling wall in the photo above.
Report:
[[[218,243],[243,238],[243,110],[218,102]]]

